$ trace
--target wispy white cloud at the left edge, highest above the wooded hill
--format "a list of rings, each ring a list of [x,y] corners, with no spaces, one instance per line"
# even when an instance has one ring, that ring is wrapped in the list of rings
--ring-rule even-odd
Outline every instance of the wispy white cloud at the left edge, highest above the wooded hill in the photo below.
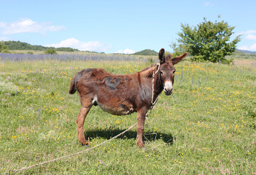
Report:
[[[2,30],[1,30],[2,28]],[[51,25],[50,22],[34,22],[31,19],[21,19],[10,24],[7,22],[0,23],[1,34],[16,34],[16,33],[40,33],[45,34],[46,31],[60,31],[66,27]]]

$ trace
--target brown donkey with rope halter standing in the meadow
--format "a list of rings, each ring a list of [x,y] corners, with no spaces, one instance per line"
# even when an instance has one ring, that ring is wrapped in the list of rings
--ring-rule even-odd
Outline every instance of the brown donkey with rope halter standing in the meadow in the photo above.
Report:
[[[136,144],[139,147],[144,147],[142,134],[145,115],[162,90],[164,90],[165,95],[171,95],[175,72],[173,65],[180,62],[185,56],[187,56],[187,52],[170,59],[170,54],[165,56],[164,49],[161,49],[159,51],[159,64],[134,74],[114,75],[104,71],[104,69],[96,68],[83,69],[77,72],[71,80],[69,94],[78,91],[80,97],[81,109],[76,122],[78,140],[82,145],[88,145],[83,130],[86,115],[92,105],[98,105],[104,111],[114,115],[137,112]],[[152,86],[153,77],[154,84]]]

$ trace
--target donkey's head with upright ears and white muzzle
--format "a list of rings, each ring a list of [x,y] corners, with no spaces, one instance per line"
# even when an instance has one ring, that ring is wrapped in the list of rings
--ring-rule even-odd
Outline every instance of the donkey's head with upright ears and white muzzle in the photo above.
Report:
[[[179,63],[185,56],[187,56],[187,54],[188,53],[185,52],[181,56],[171,59],[170,54],[165,56],[164,49],[161,49],[159,51],[159,79],[161,81],[162,86],[164,87],[165,95],[171,95],[171,93],[173,92],[174,72],[176,71],[174,65]]]

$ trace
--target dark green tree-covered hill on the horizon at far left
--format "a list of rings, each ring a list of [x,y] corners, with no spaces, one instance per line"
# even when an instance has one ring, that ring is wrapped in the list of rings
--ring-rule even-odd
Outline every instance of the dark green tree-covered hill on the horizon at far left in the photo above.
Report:
[[[79,51],[78,49],[73,48],[54,48],[54,47],[45,47],[40,45],[31,45],[29,43],[20,42],[20,41],[0,41],[3,45],[7,45],[10,50],[34,50],[34,51],[45,51],[47,49],[54,49],[56,51],[66,51],[74,52]]]

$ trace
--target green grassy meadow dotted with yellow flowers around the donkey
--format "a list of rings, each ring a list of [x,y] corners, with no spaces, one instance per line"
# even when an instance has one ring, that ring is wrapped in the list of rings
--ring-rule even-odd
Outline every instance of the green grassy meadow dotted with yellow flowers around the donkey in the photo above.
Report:
[[[0,174],[85,150],[77,140],[72,76],[84,68],[129,74],[143,62],[0,62]],[[18,174],[255,174],[256,72],[213,63],[176,65],[173,95],[161,97],[145,129],[132,129],[93,151]],[[10,95],[9,95],[10,94]],[[92,107],[91,147],[136,123]]]

